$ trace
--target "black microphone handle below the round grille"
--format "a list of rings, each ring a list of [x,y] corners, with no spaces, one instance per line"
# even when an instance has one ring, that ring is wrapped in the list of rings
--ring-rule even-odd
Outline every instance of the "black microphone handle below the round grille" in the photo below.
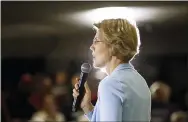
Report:
[[[79,96],[77,98],[74,98],[73,105],[72,105],[73,112],[76,112],[77,109],[80,107],[80,104],[85,94],[84,84],[87,80],[87,77],[88,77],[88,73],[81,72],[80,80],[79,80]]]

